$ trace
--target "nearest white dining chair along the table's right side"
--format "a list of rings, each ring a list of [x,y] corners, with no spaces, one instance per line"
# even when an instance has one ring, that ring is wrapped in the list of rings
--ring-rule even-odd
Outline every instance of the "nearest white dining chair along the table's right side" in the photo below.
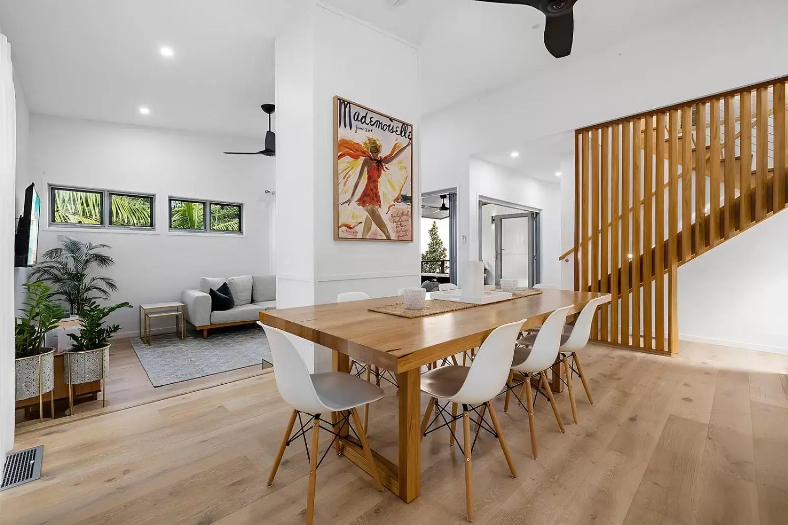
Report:
[[[460,449],[465,458],[465,497],[469,521],[474,520],[473,470],[470,453],[473,443],[476,442],[476,438],[473,442],[470,439],[471,413],[478,416],[478,420],[474,420],[476,437],[481,430],[495,436],[504,451],[511,477],[517,477],[504,433],[501,431],[498,417],[490,401],[500,394],[501,389],[506,385],[511,360],[515,354],[515,339],[525,322],[526,320],[520,320],[493,330],[481,343],[470,367],[442,366],[422,374],[422,392],[429,394],[429,402],[422,420],[422,438],[440,428],[449,427],[449,445],[454,446],[455,440],[459,445],[459,439],[455,437],[455,428],[457,420],[463,420],[463,445]],[[448,405],[452,405],[451,416],[448,415]],[[463,412],[459,415],[458,405],[463,407]],[[433,410],[436,409],[437,416],[430,422]],[[485,421],[485,413],[489,413],[492,428]],[[441,423],[435,426],[439,419]],[[433,426],[434,428],[430,430]]]

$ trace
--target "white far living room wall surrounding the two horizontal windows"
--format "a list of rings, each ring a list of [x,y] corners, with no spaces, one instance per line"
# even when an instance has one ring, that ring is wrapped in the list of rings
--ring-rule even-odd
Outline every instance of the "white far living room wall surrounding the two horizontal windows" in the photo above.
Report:
[[[260,139],[106,124],[32,115],[30,176],[42,198],[39,253],[58,245],[57,236],[112,246],[112,268],[102,271],[117,281],[111,301],[134,306],[115,312],[110,322],[121,334],[136,334],[140,303],[180,299],[184,288],[197,287],[203,275],[269,273],[269,198],[273,159],[225,155],[228,150],[255,151]],[[47,184],[139,191],[156,195],[153,232],[85,230],[51,227]],[[169,195],[243,202],[243,235],[171,233]]]

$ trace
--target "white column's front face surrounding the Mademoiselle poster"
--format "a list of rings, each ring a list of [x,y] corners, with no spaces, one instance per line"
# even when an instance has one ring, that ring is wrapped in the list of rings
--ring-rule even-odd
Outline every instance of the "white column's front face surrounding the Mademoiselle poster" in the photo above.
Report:
[[[315,20],[315,223],[314,248],[318,287],[315,301],[336,301],[348,290],[372,296],[394,295],[400,287],[418,286],[421,272],[418,133],[421,93],[418,50],[344,13],[318,6]],[[359,45],[363,43],[363,45]],[[348,67],[348,50],[356,64],[383,64],[385,75],[370,68]],[[388,57],[388,58],[385,58]],[[374,66],[372,66],[374,70]],[[333,97],[340,95],[414,125],[413,242],[336,242],[333,240]]]

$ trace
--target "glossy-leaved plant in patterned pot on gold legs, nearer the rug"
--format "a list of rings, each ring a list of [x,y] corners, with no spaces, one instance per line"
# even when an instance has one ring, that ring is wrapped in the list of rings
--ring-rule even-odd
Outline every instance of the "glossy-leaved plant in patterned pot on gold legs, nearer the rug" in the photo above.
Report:
[[[131,308],[128,302],[99,306],[95,301],[84,305],[80,314],[80,332],[69,334],[73,343],[65,353],[63,379],[69,385],[69,409],[74,398],[71,385],[102,381],[102,402],[106,406],[106,388],[103,381],[110,375],[110,338],[121,329],[118,324],[105,325],[106,317],[121,308]],[[69,412],[71,413],[71,412]]]

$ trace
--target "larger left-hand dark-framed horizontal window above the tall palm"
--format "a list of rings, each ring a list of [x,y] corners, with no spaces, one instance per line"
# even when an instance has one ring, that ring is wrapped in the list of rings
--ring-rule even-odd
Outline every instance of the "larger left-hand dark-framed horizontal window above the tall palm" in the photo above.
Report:
[[[152,230],[154,201],[150,194],[50,186],[50,224]]]

